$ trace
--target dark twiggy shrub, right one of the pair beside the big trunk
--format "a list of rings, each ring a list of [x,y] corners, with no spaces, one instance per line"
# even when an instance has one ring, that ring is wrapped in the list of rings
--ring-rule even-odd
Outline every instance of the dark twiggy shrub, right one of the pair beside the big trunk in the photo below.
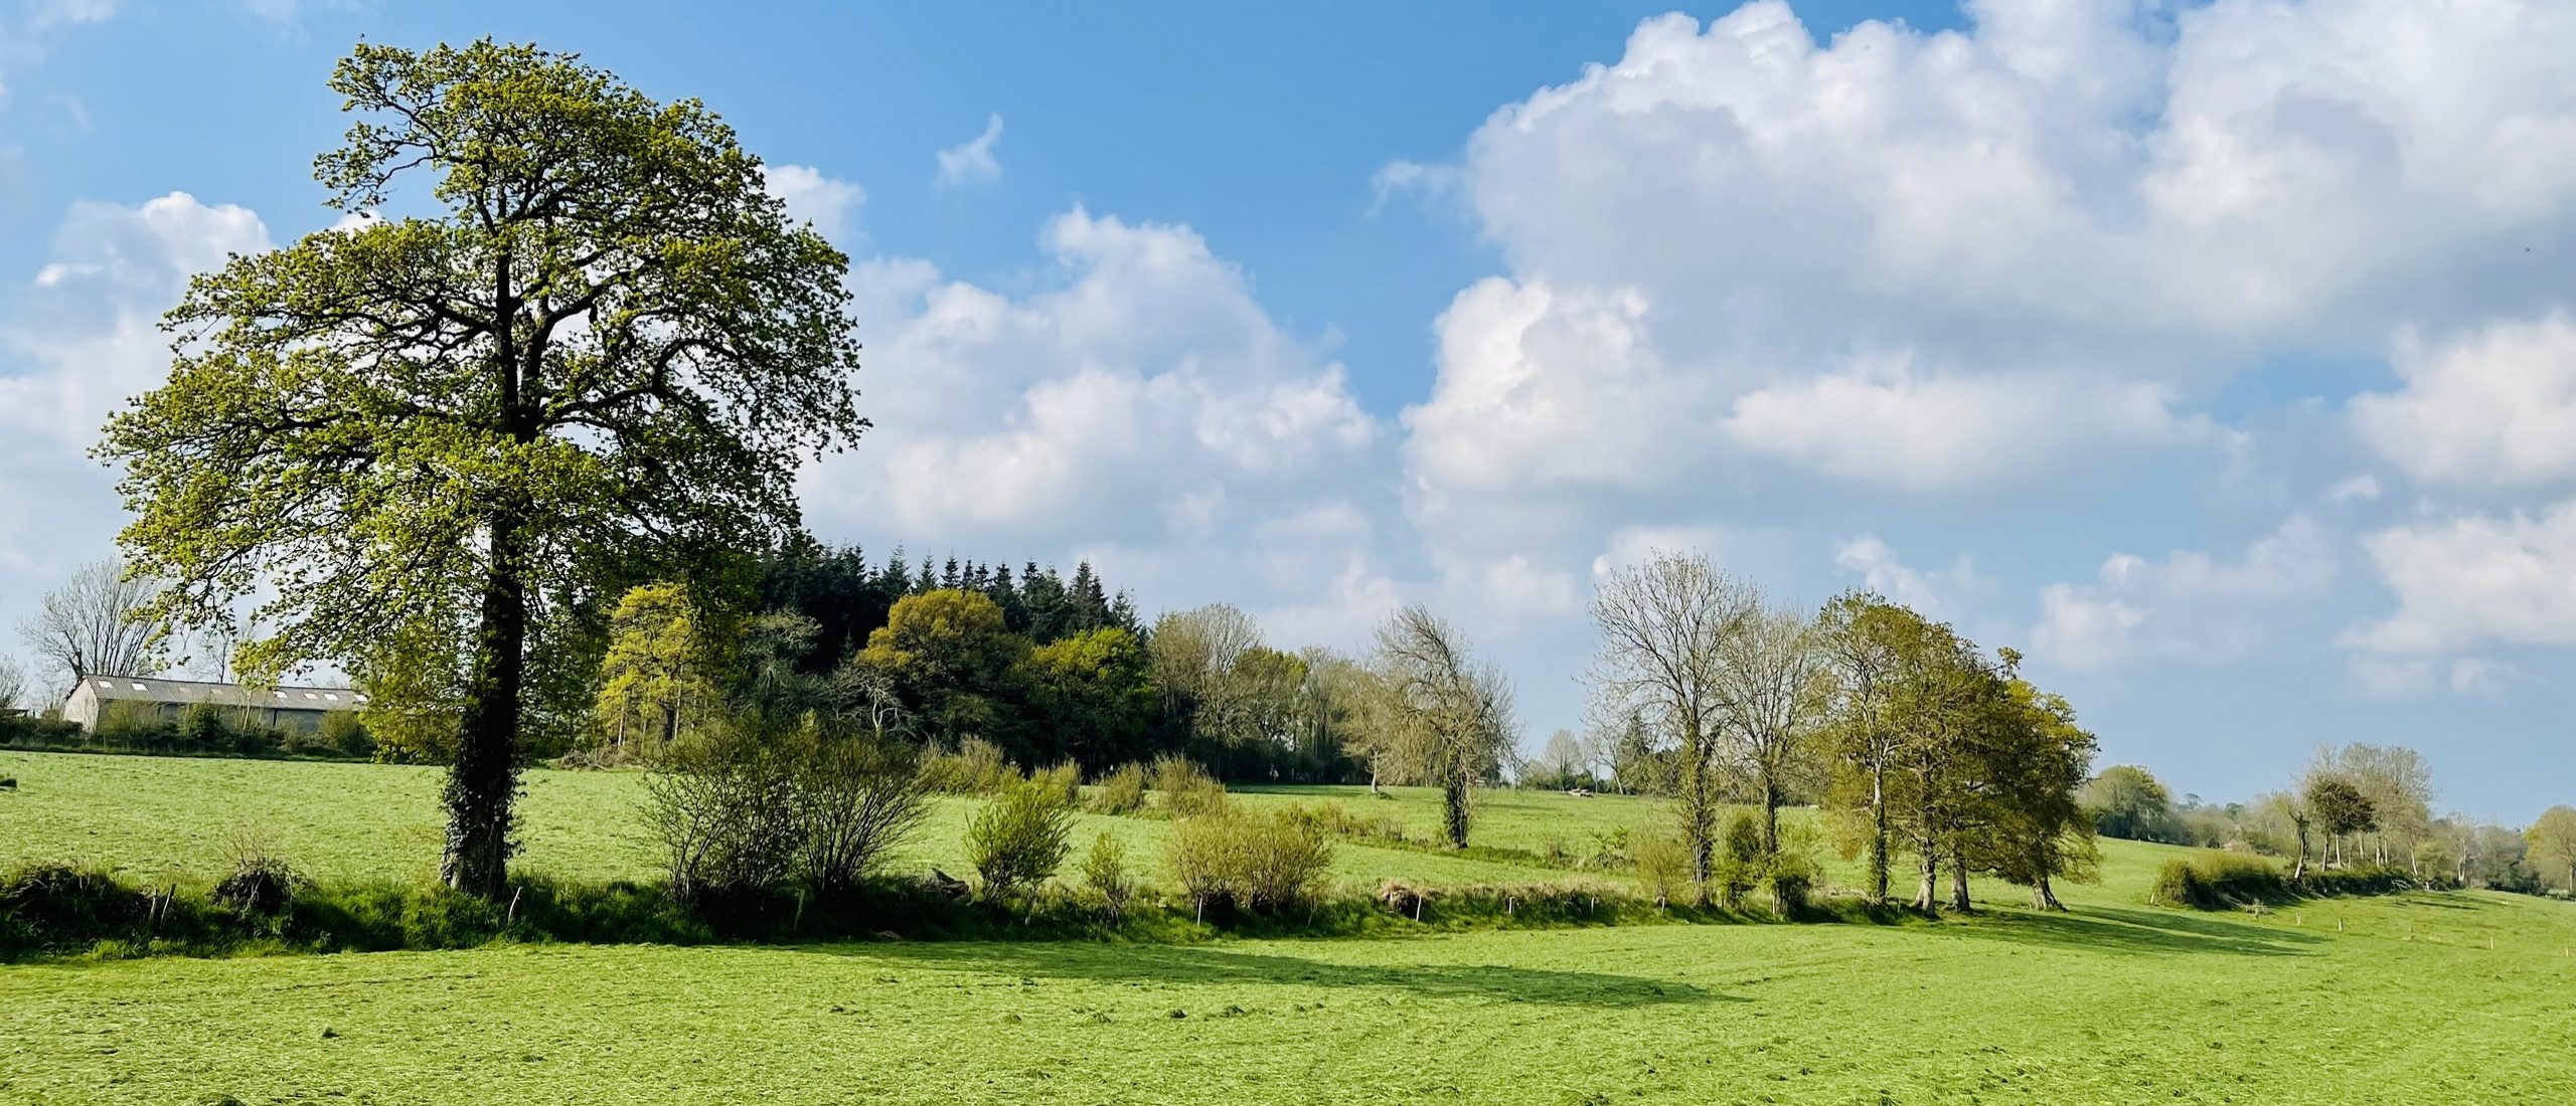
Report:
[[[806,885],[822,895],[881,869],[930,815],[920,751],[873,730],[809,728],[788,769]]]

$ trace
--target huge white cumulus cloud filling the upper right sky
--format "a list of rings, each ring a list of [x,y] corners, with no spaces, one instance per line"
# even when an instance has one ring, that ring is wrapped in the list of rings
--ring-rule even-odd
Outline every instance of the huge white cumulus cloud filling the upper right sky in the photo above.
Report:
[[[2576,144],[2535,141],[2576,134],[2550,5],[1968,18],[1824,44],[1772,0],[1654,18],[1455,165],[1388,165],[1381,188],[1450,180],[1510,265],[1437,324],[1422,502],[1698,489],[1739,458],[1893,491],[2081,478],[2228,445],[2190,396],[2264,352],[2576,278],[2522,252],[2576,229]]]

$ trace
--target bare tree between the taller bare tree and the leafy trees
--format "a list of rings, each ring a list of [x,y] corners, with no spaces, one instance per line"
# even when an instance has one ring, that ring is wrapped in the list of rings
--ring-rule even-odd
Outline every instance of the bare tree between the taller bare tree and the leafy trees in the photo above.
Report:
[[[1726,720],[1718,748],[1762,802],[1762,854],[1780,851],[1780,797],[1816,756],[1829,669],[1816,622],[1793,607],[1754,602],[1718,646]]]

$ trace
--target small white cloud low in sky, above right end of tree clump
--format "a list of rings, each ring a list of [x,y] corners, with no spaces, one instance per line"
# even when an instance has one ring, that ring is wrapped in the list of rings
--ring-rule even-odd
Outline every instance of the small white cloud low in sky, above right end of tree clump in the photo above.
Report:
[[[2040,589],[2032,656],[2069,669],[2143,661],[2226,664],[2269,640],[2269,620],[2334,581],[2334,548],[2290,517],[2241,558],[2174,550],[2161,561],[2115,553],[2094,584]]]

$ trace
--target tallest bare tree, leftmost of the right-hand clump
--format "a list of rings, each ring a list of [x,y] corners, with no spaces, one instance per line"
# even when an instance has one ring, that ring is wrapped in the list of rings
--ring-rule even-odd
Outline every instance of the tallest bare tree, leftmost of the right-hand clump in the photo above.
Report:
[[[1677,741],[1682,844],[1703,898],[1718,831],[1710,769],[1726,723],[1726,640],[1757,604],[1752,586],[1710,568],[1705,556],[1664,550],[1620,566],[1592,597],[1592,622],[1602,633],[1589,674],[1595,710],[1643,718]]]

